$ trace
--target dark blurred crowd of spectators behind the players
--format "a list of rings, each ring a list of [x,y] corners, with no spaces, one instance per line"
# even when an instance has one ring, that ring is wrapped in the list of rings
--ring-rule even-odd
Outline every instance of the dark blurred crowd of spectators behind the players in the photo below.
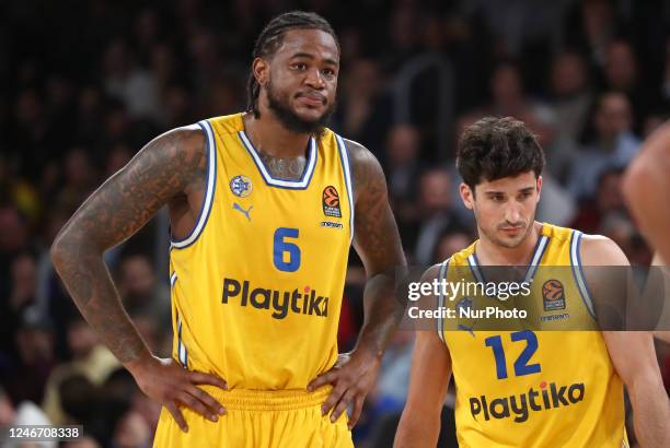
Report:
[[[48,248],[153,137],[243,110],[254,38],[291,9],[321,13],[339,35],[332,128],[382,163],[412,264],[476,235],[453,154],[485,115],[515,116],[538,134],[547,158],[538,220],[607,235],[633,264],[649,264],[621,178],[670,116],[667,0],[10,0],[0,4],[0,426],[78,423],[88,437],[63,446],[150,446],[159,406],[82,320]],[[160,214],[105,255],[162,356],[172,350],[166,226]],[[342,351],[362,320],[355,255],[347,279]],[[357,446],[390,446],[412,341],[398,332],[389,347]],[[658,349],[670,386],[670,350]],[[440,446],[455,446],[452,413],[443,423]]]

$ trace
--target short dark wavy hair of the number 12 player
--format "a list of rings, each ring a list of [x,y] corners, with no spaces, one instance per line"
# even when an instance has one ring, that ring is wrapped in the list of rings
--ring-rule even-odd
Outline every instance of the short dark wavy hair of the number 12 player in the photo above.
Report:
[[[544,152],[523,121],[485,117],[465,129],[459,140],[457,168],[474,191],[484,180],[513,177],[544,168]]]

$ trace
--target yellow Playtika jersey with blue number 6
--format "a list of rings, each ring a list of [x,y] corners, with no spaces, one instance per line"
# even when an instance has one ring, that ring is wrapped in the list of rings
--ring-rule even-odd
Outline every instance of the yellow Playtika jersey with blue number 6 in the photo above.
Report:
[[[198,123],[208,178],[170,251],[174,356],[229,388],[304,389],[337,358],[354,196],[344,140],[310,139],[299,180],[274,178],[242,115]]]

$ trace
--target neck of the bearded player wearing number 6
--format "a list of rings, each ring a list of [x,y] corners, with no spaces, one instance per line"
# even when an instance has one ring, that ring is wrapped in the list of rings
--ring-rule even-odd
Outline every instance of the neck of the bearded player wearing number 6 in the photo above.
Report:
[[[272,110],[261,110],[261,118],[244,114],[242,120],[246,134],[258,151],[279,158],[304,156],[311,135],[288,131]]]

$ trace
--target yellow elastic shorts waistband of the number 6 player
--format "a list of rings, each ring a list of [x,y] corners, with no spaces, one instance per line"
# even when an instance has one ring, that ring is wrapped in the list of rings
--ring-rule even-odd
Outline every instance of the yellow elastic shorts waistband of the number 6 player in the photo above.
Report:
[[[313,392],[307,390],[223,390],[201,385],[223,408],[234,411],[292,411],[323,404],[331,394],[332,386],[322,387]]]

